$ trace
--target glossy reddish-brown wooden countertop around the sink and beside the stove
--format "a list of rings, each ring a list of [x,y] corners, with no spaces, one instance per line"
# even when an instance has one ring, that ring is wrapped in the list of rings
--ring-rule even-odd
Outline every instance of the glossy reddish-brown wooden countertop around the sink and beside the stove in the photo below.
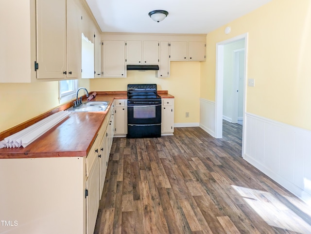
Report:
[[[174,98],[167,92],[159,93],[159,95],[161,98]],[[97,96],[91,101],[110,101],[106,111],[70,112],[69,117],[54,126],[47,133],[40,136],[26,148],[0,149],[0,159],[85,157],[90,150],[114,99],[127,99],[126,91],[97,92]],[[65,109],[67,109],[72,106],[72,103],[70,105],[66,104],[65,106]],[[56,109],[58,111],[64,110],[64,108],[61,107]],[[51,111],[51,113],[53,112],[54,111]],[[48,114],[44,114],[43,116],[47,117]],[[32,120],[32,122],[33,121],[34,120]],[[23,126],[25,128],[25,126],[27,127],[29,124],[27,125],[27,123],[24,123]],[[14,130],[10,129],[10,132],[14,133]],[[5,137],[5,134],[2,134],[2,136]],[[2,137],[2,139],[4,137]]]

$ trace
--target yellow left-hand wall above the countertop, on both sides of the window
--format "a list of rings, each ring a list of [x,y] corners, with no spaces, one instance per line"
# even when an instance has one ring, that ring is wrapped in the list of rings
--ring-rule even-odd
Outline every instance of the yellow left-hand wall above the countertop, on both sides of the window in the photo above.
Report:
[[[89,88],[89,80],[79,80]],[[0,84],[0,132],[59,106],[58,81]]]

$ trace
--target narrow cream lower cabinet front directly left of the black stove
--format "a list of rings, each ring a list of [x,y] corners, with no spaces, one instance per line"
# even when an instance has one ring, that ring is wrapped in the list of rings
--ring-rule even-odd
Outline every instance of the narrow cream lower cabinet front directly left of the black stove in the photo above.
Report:
[[[127,105],[126,100],[115,102],[115,134],[127,134]]]

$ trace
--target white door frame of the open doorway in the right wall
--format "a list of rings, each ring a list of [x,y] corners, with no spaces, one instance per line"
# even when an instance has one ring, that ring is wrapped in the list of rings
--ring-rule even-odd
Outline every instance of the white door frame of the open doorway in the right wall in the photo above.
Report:
[[[246,77],[247,77],[247,44],[248,33],[232,37],[216,43],[216,85],[215,85],[215,138],[223,138],[223,94],[224,94],[224,46],[231,42],[244,39],[244,95],[243,95],[243,121],[246,107]],[[242,130],[242,155],[244,155],[244,122]]]

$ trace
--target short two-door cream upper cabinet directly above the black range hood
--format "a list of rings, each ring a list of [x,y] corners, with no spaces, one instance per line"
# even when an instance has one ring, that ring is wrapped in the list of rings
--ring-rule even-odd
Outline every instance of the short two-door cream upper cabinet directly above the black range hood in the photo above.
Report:
[[[158,41],[126,41],[126,64],[157,65],[158,51]]]

